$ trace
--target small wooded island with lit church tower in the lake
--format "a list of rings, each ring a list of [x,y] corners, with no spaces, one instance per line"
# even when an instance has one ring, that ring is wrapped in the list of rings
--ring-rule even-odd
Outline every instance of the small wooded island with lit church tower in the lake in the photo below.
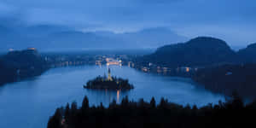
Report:
[[[108,78],[106,75],[98,76],[96,79],[89,80],[85,89],[97,89],[97,90],[131,90],[134,89],[132,84],[129,84],[128,79],[121,79],[111,76],[110,68],[108,68]]]

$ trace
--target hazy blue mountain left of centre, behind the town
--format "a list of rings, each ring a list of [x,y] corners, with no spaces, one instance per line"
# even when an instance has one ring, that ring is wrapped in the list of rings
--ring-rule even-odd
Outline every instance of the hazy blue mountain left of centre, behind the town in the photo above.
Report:
[[[110,49],[121,48],[122,45],[127,47],[115,38],[102,37],[95,32],[55,32],[35,42],[48,44],[47,47],[41,46],[42,49]]]

